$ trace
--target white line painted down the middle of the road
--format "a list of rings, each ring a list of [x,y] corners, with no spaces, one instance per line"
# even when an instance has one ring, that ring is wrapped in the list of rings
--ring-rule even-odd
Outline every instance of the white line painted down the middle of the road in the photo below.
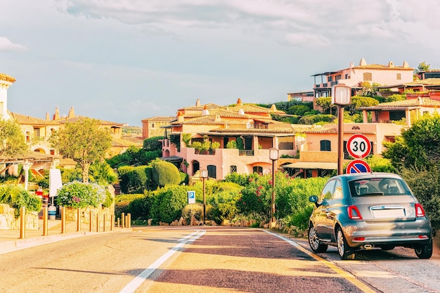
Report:
[[[131,282],[129,282],[119,293],[133,293],[138,289],[139,286],[142,285],[143,282],[145,282],[148,277],[150,277],[151,274],[153,274],[157,268],[162,266],[162,263],[167,261],[173,254],[180,251],[180,248],[183,247],[183,245],[186,245],[187,243],[193,242],[194,240],[197,240],[200,236],[204,235],[206,233],[206,230],[196,230],[194,233],[191,233],[190,235],[183,237],[179,240],[179,243],[174,246],[172,249],[169,250],[166,254],[160,256],[157,261],[155,261],[151,266],[148,268],[145,268],[145,270],[140,273],[136,278],[134,278]]]

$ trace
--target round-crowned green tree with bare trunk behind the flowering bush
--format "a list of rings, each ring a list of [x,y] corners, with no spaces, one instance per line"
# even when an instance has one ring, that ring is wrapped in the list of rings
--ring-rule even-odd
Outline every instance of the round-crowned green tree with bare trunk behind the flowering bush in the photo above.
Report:
[[[89,167],[103,159],[110,148],[112,136],[108,129],[101,129],[99,120],[84,118],[65,127],[51,136],[51,144],[60,150],[63,157],[73,159],[81,165],[82,181],[89,182]]]

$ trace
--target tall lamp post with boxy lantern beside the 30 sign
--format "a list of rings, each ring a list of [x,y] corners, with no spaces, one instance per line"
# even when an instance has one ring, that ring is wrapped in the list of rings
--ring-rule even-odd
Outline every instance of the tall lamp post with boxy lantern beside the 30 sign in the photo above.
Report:
[[[344,105],[351,103],[351,87],[337,84],[332,87],[332,104],[337,105],[337,174],[343,174],[344,162]]]

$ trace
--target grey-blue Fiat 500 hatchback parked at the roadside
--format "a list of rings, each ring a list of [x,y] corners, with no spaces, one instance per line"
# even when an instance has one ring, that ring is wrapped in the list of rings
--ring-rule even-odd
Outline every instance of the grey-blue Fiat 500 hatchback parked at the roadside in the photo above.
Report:
[[[313,252],[336,246],[341,259],[356,250],[413,248],[420,259],[432,256],[432,228],[425,210],[403,178],[389,173],[334,176],[318,197],[309,221]]]

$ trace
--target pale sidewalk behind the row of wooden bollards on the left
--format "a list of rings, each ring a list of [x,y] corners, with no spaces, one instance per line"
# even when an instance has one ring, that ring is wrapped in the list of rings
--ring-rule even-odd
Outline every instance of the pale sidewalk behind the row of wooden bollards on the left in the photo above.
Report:
[[[93,227],[96,231],[96,227]],[[127,228],[116,228],[115,230],[128,230]],[[107,227],[105,232],[111,232]],[[89,224],[82,223],[81,229],[77,231],[77,222],[66,222],[65,233],[61,233],[61,220],[48,220],[48,229],[46,236],[43,236],[43,220],[39,219],[39,230],[25,230],[25,237],[20,239],[20,230],[0,230],[0,254],[13,252],[26,247],[43,245],[50,242],[81,237],[85,235],[93,235],[98,232],[90,232]],[[103,233],[101,230],[99,233]]]

